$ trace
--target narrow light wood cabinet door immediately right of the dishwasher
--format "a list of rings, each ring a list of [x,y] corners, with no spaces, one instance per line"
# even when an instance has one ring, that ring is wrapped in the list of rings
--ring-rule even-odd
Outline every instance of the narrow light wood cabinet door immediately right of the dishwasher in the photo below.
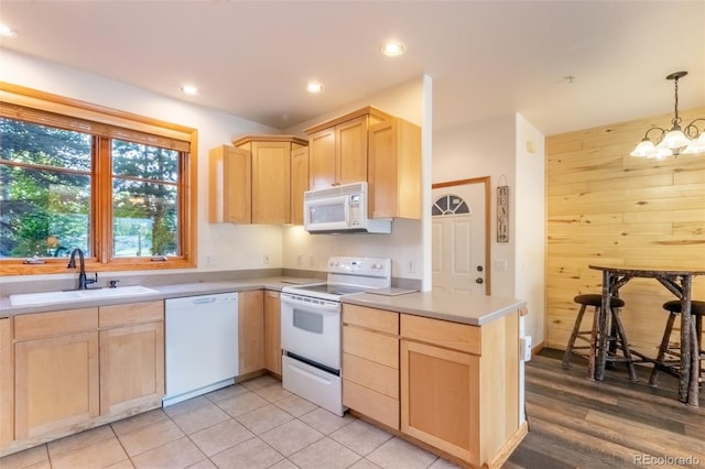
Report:
[[[238,294],[239,373],[264,369],[264,292]]]

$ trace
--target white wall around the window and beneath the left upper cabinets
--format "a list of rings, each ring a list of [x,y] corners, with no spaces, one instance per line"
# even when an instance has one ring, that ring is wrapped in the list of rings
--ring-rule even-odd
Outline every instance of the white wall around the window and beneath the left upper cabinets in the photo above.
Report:
[[[0,50],[0,73],[3,81],[198,129],[197,270],[281,266],[281,227],[207,221],[208,149],[228,144],[245,133],[281,133],[280,130],[7,50]],[[265,253],[269,265],[263,262]],[[216,262],[207,265],[209,255]]]

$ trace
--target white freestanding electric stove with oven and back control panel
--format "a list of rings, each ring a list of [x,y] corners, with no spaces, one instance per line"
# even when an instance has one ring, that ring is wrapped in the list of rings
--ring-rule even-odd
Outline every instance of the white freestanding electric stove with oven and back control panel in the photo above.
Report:
[[[340,298],[390,286],[390,259],[335,257],[326,283],[282,288],[282,386],[341,416]]]

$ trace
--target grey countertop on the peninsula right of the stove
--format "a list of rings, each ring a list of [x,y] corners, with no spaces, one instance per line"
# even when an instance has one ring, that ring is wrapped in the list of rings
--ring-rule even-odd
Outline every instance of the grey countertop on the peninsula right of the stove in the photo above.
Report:
[[[523,308],[527,304],[527,302],[516,298],[453,295],[441,292],[416,292],[398,296],[358,293],[345,296],[343,303],[469,324],[471,326],[484,326],[519,308]]]

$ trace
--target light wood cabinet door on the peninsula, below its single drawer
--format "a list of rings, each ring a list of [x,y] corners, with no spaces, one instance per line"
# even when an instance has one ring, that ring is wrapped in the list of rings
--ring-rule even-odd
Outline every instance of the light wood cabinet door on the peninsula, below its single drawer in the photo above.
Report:
[[[401,430],[476,462],[479,357],[401,340]]]

